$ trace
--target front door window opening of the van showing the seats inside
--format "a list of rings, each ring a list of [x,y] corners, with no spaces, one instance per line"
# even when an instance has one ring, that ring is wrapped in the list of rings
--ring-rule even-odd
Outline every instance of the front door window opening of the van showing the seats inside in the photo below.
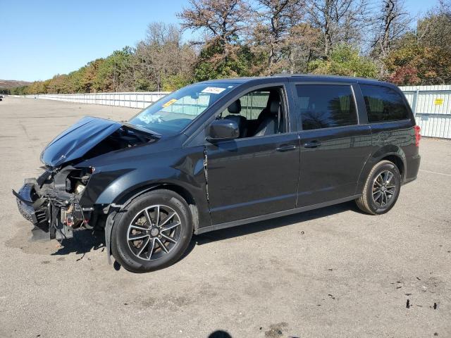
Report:
[[[249,92],[230,104],[218,119],[234,120],[240,139],[285,132],[285,114],[281,87]]]

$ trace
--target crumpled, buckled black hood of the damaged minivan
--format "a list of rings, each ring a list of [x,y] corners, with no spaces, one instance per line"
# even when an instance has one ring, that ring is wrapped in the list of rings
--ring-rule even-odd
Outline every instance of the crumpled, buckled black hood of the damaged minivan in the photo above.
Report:
[[[56,167],[65,162],[81,158],[90,149],[123,126],[144,132],[142,128],[128,123],[119,123],[91,116],[82,118],[49,143],[42,151],[41,161],[46,165]],[[152,133],[149,131],[149,134]]]

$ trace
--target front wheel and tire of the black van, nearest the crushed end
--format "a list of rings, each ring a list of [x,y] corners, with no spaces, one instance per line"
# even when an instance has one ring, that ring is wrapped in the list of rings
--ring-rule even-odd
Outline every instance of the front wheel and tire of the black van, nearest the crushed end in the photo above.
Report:
[[[153,190],[119,211],[111,232],[111,253],[133,273],[159,270],[178,261],[190,244],[192,232],[186,201],[171,190]]]

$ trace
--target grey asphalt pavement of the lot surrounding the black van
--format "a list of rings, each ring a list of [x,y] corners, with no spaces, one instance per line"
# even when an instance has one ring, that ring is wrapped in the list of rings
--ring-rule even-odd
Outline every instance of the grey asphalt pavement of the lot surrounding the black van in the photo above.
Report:
[[[135,113],[0,102],[0,337],[451,337],[447,140],[421,140],[390,213],[350,202],[194,236],[154,273],[108,265],[101,233],[30,242],[11,188],[42,172],[44,146],[84,115]]]

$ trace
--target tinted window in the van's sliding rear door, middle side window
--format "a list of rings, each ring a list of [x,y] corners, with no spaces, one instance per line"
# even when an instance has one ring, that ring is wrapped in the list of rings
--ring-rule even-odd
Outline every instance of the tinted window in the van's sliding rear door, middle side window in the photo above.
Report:
[[[296,89],[302,130],[357,125],[350,86],[299,84]]]

